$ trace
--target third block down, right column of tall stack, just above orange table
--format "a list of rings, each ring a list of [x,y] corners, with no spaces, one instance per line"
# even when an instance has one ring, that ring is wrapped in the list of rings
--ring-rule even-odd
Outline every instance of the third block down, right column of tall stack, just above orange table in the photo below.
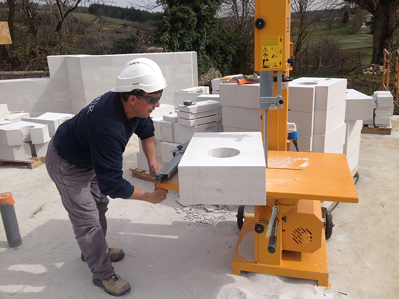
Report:
[[[327,135],[313,134],[312,149],[316,152],[335,152],[345,144],[346,124],[342,124]]]

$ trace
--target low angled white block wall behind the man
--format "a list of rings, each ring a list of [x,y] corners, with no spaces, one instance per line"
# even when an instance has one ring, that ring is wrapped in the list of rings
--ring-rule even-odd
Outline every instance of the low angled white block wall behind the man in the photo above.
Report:
[[[48,56],[49,78],[0,80],[0,104],[31,117],[45,112],[77,114],[111,90],[130,60],[147,57],[160,66],[168,87],[161,103],[173,105],[174,92],[198,86],[196,52]]]

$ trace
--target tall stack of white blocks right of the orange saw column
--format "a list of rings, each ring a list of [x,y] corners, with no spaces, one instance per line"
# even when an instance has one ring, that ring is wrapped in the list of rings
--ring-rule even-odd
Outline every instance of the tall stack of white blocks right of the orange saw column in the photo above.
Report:
[[[288,122],[297,125],[301,151],[344,152],[346,84],[346,79],[306,77],[289,83]]]

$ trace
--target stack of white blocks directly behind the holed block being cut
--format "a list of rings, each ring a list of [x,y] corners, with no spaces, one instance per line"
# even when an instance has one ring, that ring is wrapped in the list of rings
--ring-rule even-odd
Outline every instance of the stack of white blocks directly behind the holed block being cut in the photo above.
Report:
[[[259,109],[259,83],[219,85],[223,132],[259,132],[262,121]]]

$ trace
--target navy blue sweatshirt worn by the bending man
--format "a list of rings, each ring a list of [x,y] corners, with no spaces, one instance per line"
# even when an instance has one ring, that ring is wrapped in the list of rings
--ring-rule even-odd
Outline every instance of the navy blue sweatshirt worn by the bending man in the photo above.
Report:
[[[55,133],[58,155],[74,164],[93,168],[104,195],[129,198],[134,186],[122,175],[122,154],[135,133],[141,140],[154,136],[151,118],[128,120],[119,93],[107,92],[62,123]]]

